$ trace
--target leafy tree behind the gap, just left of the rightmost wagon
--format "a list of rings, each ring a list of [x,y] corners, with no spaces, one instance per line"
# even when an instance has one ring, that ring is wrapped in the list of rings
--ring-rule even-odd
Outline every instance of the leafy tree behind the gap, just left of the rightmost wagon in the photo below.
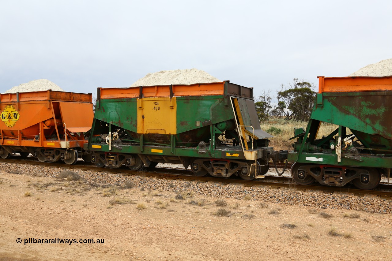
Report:
[[[287,87],[281,85],[281,89],[278,91],[278,105],[280,103],[281,106],[278,106],[278,108],[285,115],[286,120],[309,120],[316,95],[314,89],[313,84],[303,80],[298,81],[298,78],[294,78],[293,82],[289,83]],[[285,103],[285,107],[283,107],[282,101]],[[286,107],[288,111],[285,110]]]

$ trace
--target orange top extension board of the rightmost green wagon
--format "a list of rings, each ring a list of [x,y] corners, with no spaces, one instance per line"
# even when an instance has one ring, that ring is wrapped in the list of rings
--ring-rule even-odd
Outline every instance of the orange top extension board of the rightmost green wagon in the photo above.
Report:
[[[318,76],[319,93],[392,91],[392,76],[328,77]]]

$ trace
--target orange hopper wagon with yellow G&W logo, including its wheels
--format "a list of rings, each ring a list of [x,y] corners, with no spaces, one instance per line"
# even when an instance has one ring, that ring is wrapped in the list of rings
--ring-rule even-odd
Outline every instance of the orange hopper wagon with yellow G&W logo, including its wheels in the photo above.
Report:
[[[40,161],[88,161],[83,150],[94,112],[92,95],[60,91],[0,94],[0,156],[30,153]]]

